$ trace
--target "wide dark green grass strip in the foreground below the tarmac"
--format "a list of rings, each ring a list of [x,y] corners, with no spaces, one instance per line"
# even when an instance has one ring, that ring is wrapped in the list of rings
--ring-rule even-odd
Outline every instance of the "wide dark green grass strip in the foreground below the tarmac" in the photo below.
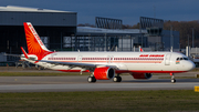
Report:
[[[0,112],[199,111],[193,90],[0,93]]]

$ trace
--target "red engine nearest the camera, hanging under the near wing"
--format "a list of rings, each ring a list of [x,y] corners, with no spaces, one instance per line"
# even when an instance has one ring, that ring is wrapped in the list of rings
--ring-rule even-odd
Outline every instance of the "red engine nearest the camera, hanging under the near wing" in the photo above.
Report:
[[[96,68],[94,77],[96,80],[109,80],[115,77],[115,70],[109,67]]]

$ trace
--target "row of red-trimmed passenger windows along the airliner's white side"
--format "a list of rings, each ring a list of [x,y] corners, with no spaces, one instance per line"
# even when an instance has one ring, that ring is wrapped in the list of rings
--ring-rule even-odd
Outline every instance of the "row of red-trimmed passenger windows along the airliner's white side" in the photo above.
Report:
[[[76,58],[49,58],[49,60],[76,60]],[[109,58],[82,58],[82,60],[109,60]],[[164,58],[114,58],[114,60],[164,60]]]

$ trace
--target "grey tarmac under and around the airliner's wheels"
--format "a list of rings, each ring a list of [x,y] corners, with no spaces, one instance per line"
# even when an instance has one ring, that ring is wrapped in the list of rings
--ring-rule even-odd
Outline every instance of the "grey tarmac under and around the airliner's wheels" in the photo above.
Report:
[[[0,68],[0,72],[57,72],[52,70]],[[176,77],[195,77],[199,72],[179,73]],[[97,80],[87,82],[88,75],[65,77],[0,77],[0,92],[71,92],[71,91],[137,91],[137,90],[193,90],[199,79],[159,79],[169,74],[153,75],[149,80],[135,80],[132,75],[122,75],[122,82]]]

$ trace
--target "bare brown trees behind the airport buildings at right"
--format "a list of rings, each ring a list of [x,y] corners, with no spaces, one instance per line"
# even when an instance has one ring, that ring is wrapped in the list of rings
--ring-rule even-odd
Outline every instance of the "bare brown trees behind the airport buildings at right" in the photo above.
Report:
[[[188,45],[188,38],[189,38],[189,45],[192,47],[192,29],[193,29],[193,39],[195,39],[195,47],[199,47],[199,21],[165,21],[164,22],[164,30],[171,30],[179,31],[180,38],[180,48],[185,49]],[[139,29],[139,23],[129,26],[123,26],[124,29]],[[178,43],[177,43],[178,44]]]

